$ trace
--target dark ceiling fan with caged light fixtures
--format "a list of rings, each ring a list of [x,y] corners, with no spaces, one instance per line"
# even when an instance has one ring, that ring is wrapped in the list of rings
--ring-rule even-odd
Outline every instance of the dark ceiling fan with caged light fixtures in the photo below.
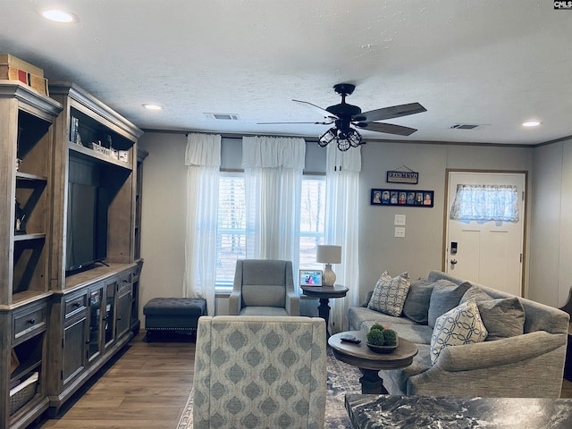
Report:
[[[314,123],[315,125],[330,125],[333,123],[334,127],[324,132],[318,140],[318,144],[321,147],[326,147],[333,140],[336,140],[338,148],[341,151],[346,151],[349,147],[357,147],[364,143],[359,132],[355,128],[352,128],[352,126],[362,130],[384,132],[398,136],[409,136],[416,131],[415,128],[376,121],[399,118],[401,116],[408,116],[409,114],[420,114],[427,111],[427,109],[419,103],[409,103],[407,105],[393,105],[391,107],[383,107],[381,109],[370,110],[362,113],[361,109],[357,107],[357,105],[349,105],[346,103],[346,97],[351,95],[355,88],[356,86],[351,83],[339,83],[334,85],[333,90],[341,96],[341,103],[339,105],[331,105],[325,109],[307,101],[292,100],[318,109],[318,111],[324,115],[324,122],[260,123]]]

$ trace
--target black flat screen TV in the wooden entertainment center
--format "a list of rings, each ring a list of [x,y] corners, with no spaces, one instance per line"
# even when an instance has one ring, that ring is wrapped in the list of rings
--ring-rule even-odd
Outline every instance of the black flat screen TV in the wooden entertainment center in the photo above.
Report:
[[[65,271],[75,272],[107,256],[107,192],[69,183]]]

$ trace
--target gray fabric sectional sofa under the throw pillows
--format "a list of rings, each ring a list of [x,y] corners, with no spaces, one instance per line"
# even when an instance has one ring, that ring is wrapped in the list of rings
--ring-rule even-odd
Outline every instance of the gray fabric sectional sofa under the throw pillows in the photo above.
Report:
[[[517,304],[519,301],[524,309],[522,333],[445,347],[432,365],[430,344],[433,327],[427,323],[432,316],[434,318],[431,313],[435,309],[427,308],[433,294],[432,283],[437,282],[467,283],[446,273],[432,271],[427,279],[411,282],[403,314],[399,317],[368,308],[371,292],[361,307],[349,308],[350,330],[367,331],[375,323],[391,324],[401,338],[417,344],[419,352],[411,366],[380,372],[390,394],[559,398],[568,338],[567,313],[529,299],[514,299],[507,293],[472,283],[492,299],[506,301],[512,298]],[[507,315],[506,319],[507,324],[515,322],[513,315]],[[483,322],[486,324],[485,319]]]

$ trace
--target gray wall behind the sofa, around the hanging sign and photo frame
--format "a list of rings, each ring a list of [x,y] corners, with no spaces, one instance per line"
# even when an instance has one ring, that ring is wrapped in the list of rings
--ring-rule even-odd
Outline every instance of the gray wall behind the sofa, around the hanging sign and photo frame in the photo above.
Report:
[[[417,185],[386,183],[388,170],[401,165],[419,172]],[[360,299],[373,289],[384,269],[408,271],[412,279],[442,269],[445,179],[447,169],[529,171],[532,149],[439,144],[369,143],[362,148],[360,175]],[[433,208],[370,206],[372,188],[434,190]],[[394,237],[395,214],[406,215],[406,237]]]

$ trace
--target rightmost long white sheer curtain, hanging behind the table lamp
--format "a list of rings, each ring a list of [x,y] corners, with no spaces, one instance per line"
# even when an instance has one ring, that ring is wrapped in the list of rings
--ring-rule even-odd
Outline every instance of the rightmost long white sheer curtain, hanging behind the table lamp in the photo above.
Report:
[[[325,244],[341,246],[336,283],[349,288],[345,299],[330,299],[330,332],[348,330],[348,307],[359,305],[359,172],[361,147],[341,152],[327,147]]]

